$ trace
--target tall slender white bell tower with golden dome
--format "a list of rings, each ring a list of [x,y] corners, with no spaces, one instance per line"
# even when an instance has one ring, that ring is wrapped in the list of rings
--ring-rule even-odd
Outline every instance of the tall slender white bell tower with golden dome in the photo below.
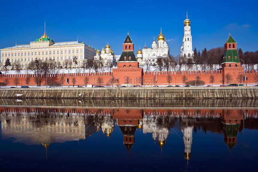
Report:
[[[191,21],[188,19],[187,12],[186,19],[184,20],[184,36],[183,45],[181,47],[181,56],[193,57]]]

